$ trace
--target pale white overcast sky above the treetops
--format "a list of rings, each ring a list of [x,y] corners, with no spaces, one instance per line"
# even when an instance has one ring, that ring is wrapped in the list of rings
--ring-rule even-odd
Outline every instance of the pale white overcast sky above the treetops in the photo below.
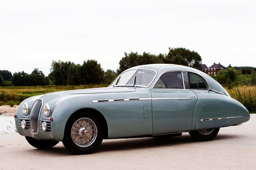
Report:
[[[50,73],[52,60],[95,59],[116,70],[124,53],[183,47],[208,67],[256,67],[255,0],[0,0],[0,70]]]

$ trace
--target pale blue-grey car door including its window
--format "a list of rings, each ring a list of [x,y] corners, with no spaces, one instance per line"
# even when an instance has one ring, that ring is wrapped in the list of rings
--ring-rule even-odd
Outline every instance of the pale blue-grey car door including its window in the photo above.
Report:
[[[151,97],[154,135],[192,130],[198,98],[190,89],[187,72],[163,73],[151,89]]]

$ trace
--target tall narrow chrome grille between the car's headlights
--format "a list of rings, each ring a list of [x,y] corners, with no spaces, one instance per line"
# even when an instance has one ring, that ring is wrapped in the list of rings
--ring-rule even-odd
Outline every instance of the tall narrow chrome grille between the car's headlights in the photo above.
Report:
[[[42,108],[42,100],[36,100],[31,109],[30,128],[32,133],[38,133],[38,118]]]

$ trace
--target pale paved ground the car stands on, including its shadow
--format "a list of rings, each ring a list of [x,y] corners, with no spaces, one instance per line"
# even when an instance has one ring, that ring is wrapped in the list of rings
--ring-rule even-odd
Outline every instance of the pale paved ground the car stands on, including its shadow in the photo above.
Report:
[[[18,133],[0,135],[0,169],[255,170],[256,114],[240,126],[221,128],[210,142],[188,133],[167,139],[104,140],[96,153],[73,155],[60,142],[50,150],[30,146]]]

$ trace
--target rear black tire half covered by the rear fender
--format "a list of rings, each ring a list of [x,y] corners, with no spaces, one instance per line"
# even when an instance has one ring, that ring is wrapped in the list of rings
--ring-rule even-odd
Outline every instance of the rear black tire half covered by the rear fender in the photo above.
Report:
[[[215,136],[217,136],[219,130],[220,128],[194,130],[189,132],[189,135],[196,141],[211,141],[212,139],[215,138]]]

